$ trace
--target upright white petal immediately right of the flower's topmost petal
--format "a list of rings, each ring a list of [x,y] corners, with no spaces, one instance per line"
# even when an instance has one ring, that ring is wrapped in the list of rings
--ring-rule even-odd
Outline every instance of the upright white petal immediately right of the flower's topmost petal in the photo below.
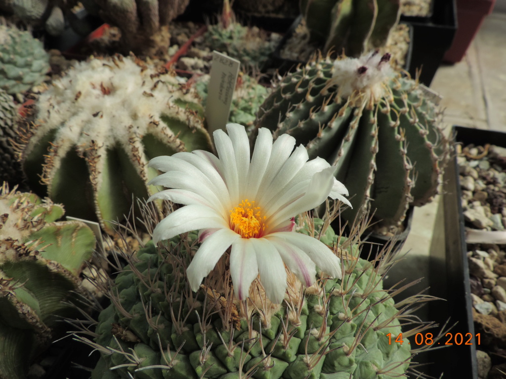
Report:
[[[255,199],[257,197],[258,188],[260,187],[265,170],[269,164],[271,152],[272,133],[267,128],[260,128],[249,165],[248,181],[244,195],[245,199]]]

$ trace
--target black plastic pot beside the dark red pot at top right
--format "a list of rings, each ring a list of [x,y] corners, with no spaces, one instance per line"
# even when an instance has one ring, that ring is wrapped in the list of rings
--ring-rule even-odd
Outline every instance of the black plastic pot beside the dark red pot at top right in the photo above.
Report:
[[[434,13],[430,18],[412,18],[412,55],[408,72],[411,77],[421,69],[419,81],[431,85],[441,61],[450,48],[457,30],[455,0],[434,0]]]

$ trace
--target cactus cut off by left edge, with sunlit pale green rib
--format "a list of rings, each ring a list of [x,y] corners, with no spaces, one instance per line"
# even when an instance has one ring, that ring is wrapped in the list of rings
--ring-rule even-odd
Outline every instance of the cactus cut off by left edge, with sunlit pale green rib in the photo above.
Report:
[[[25,379],[30,360],[75,317],[87,294],[79,275],[95,248],[93,231],[56,221],[63,207],[0,187],[0,378]]]

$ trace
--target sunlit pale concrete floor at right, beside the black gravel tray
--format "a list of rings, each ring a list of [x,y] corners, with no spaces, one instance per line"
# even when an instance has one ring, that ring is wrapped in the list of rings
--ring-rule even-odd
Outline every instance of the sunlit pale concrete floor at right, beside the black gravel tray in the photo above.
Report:
[[[506,131],[506,13],[495,10],[487,16],[466,56],[442,65],[431,88],[443,96],[449,126]],[[402,249],[409,256],[429,254],[438,204],[439,197],[414,210]]]

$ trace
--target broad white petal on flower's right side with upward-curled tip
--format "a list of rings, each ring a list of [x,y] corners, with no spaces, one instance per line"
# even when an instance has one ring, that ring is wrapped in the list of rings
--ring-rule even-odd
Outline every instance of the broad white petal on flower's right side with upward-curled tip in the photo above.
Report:
[[[329,167],[314,174],[304,196],[268,217],[266,224],[278,225],[291,217],[309,211],[323,203],[328,197],[334,183],[332,170],[333,169]]]

